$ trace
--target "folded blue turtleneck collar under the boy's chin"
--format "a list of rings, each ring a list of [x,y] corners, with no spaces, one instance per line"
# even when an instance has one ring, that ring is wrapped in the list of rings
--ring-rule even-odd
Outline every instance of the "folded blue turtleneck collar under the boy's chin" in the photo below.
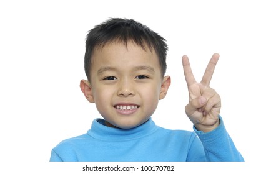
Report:
[[[155,125],[154,121],[150,118],[140,126],[132,129],[120,129],[114,127],[108,127],[104,124],[104,119],[94,119],[92,127],[87,132],[88,135],[94,139],[101,140],[129,140],[138,139],[145,135],[152,134],[159,127]]]

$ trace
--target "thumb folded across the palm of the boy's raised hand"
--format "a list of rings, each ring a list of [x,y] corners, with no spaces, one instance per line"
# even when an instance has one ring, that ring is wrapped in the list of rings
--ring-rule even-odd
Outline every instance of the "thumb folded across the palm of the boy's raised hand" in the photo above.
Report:
[[[192,114],[194,114],[194,112],[197,111],[199,108],[202,108],[206,102],[207,99],[203,96],[200,96],[199,98],[195,98],[189,101],[189,104],[185,106],[185,112],[187,116],[191,116]]]

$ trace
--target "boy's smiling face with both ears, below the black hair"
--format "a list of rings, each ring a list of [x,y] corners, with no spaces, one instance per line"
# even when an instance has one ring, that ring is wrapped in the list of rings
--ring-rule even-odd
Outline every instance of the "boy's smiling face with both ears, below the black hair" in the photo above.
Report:
[[[157,54],[133,42],[113,42],[92,54],[91,83],[81,89],[106,125],[129,129],[147,121],[165,97],[170,77],[162,78]]]

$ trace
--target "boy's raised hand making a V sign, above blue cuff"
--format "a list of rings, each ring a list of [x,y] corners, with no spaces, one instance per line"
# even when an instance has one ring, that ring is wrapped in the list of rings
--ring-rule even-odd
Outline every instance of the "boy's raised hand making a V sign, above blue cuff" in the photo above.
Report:
[[[219,54],[212,55],[202,81],[197,83],[190,68],[189,58],[186,55],[182,57],[185,80],[189,89],[189,104],[185,106],[185,112],[197,130],[203,132],[212,131],[220,123],[220,96],[209,86],[218,60]]]

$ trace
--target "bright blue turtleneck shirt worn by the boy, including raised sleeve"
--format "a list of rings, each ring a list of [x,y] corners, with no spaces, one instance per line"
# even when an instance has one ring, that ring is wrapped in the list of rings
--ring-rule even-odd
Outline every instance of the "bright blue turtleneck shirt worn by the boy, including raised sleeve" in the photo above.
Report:
[[[86,134],[54,147],[50,161],[244,161],[221,117],[213,131],[204,133],[195,127],[194,131],[164,129],[152,119],[132,129],[119,129],[95,119]]]

